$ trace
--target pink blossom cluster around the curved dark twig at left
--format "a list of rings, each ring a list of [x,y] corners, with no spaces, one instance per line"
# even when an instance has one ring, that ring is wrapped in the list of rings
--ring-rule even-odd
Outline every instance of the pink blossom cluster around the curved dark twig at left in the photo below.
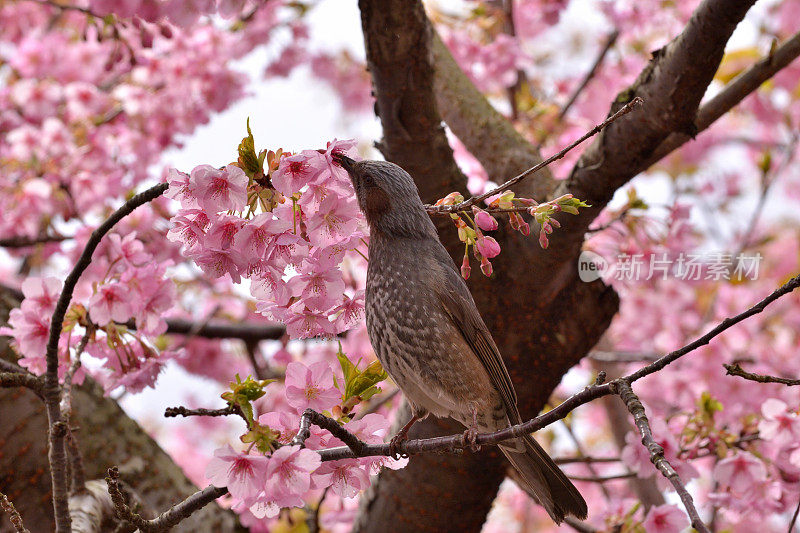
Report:
[[[165,279],[169,262],[156,263],[144,245],[131,233],[108,236],[92,258],[92,269],[82,280],[78,295],[82,303],[73,303],[65,318],[60,340],[69,366],[69,350],[86,331],[86,352],[102,362],[92,375],[110,391],[118,386],[138,392],[152,386],[165,360],[173,354],[159,351],[153,339],[167,328],[163,315],[175,306],[176,291],[172,280]],[[33,372],[46,367],[45,348],[50,335],[50,320],[61,293],[56,278],[30,277],[22,285],[25,299],[9,318],[10,335],[22,356],[20,364]],[[134,328],[125,324],[132,321]],[[63,371],[63,369],[62,369]]]

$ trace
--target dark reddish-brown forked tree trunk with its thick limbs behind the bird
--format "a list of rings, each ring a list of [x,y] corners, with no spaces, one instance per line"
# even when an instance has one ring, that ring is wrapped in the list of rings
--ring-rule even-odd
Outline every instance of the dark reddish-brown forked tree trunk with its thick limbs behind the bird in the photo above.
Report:
[[[470,280],[478,308],[508,365],[524,418],[543,407],[564,372],[600,338],[618,308],[613,290],[578,279],[576,262],[586,229],[613,192],[641,170],[638,163],[669,134],[692,129],[725,44],[752,3],[703,2],[681,35],[655,52],[648,68],[620,94],[612,112],[635,96],[642,96],[645,106],[601,134],[556,191],[571,192],[595,207],[560,219],[563,227],[551,236],[549,250],[539,249],[536,239],[498,232],[503,253],[494,262],[495,274],[492,279],[475,275]],[[536,162],[535,150],[522,148],[521,136],[499,122],[496,112],[486,105],[463,103],[477,102],[474,87],[454,74],[449,54],[432,51],[432,30],[419,2],[361,0],[359,7],[376,113],[383,125],[378,147],[387,160],[414,177],[423,201],[435,201],[453,190],[466,192],[441,127],[437,93],[448,124],[464,137],[484,168],[505,173],[490,174],[495,181]],[[434,57],[446,70],[438,74],[437,84]],[[491,128],[502,142],[487,140]],[[545,175],[534,184],[534,190],[551,186]],[[436,222],[442,242],[460,261],[463,246],[449,220]],[[427,420],[415,429],[421,436],[456,427],[450,421]],[[380,475],[362,500],[356,530],[479,531],[505,467],[492,451],[414,457],[407,468]]]

